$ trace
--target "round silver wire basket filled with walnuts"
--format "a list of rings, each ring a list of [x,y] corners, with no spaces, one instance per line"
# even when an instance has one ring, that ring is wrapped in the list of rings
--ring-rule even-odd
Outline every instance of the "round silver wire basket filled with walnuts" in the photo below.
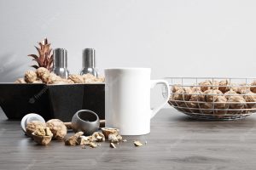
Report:
[[[167,77],[168,101],[188,116],[236,120],[256,112],[256,78]]]

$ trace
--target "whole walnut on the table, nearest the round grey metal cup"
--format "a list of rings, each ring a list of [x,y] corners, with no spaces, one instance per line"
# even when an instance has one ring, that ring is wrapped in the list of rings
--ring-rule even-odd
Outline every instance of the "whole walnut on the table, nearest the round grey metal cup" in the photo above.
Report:
[[[61,140],[67,135],[67,127],[64,122],[59,119],[51,119],[46,122],[46,126],[49,127],[50,131],[53,133],[53,139]]]

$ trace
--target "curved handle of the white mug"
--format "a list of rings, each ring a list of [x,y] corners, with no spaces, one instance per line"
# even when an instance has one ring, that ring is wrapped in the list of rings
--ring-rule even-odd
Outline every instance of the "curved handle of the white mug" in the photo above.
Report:
[[[170,98],[170,88],[169,88],[168,82],[166,82],[165,80],[151,80],[151,88],[154,88],[158,84],[163,84],[164,85],[164,89],[165,89],[164,93],[167,93],[167,95],[166,94],[163,95],[164,98],[165,98],[165,102],[164,103],[162,103],[160,106],[155,107],[154,109],[151,110],[151,118],[153,118],[155,116],[155,114],[158,111],[160,111],[160,109],[162,107],[164,107],[164,105],[166,105],[166,103],[168,102],[168,100]]]

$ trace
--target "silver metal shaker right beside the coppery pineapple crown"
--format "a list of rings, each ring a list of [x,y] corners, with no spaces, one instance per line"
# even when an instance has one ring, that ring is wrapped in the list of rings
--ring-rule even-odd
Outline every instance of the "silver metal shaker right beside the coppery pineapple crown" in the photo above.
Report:
[[[69,75],[69,71],[67,70],[67,49],[55,48],[53,51],[53,59],[53,72],[61,78],[67,78]]]

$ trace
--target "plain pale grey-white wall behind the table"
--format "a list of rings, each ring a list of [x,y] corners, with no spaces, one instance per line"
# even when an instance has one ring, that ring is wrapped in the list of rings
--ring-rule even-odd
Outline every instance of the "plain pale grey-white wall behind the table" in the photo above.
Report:
[[[0,81],[32,65],[48,37],[81,69],[83,48],[97,67],[143,66],[152,77],[256,77],[253,0],[0,0]]]

